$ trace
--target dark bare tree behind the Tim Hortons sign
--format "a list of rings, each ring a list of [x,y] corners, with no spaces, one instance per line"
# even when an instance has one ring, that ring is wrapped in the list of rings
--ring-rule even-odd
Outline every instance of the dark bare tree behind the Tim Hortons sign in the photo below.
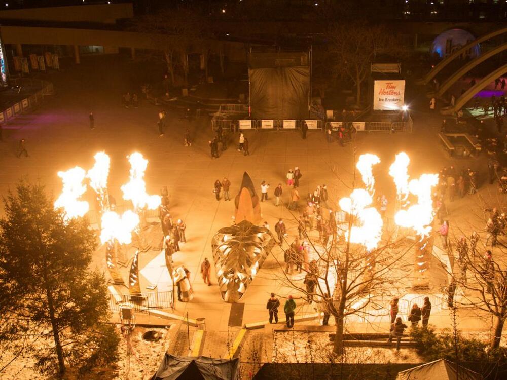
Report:
[[[400,59],[403,50],[383,26],[350,22],[333,24],[327,32],[335,78],[350,80],[356,88],[356,105],[361,101],[361,86],[370,75],[372,62],[380,56]]]

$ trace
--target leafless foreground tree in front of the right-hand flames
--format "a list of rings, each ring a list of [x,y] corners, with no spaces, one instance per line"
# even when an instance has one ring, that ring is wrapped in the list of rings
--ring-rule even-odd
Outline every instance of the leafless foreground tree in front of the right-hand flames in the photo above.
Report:
[[[354,174],[352,191],[355,185]],[[298,221],[296,215],[293,217]],[[351,242],[353,227],[363,223],[356,215],[348,215],[347,220],[339,222],[336,227],[333,219],[327,222],[336,229],[329,239],[325,234],[320,242],[308,235],[305,239],[317,255],[318,267],[304,262],[303,274],[317,279],[315,288],[304,287],[300,284],[301,279],[289,277],[285,272],[283,275],[288,286],[301,292],[304,298],[320,304],[321,309],[335,319],[334,353],[342,355],[346,317],[365,316],[369,314],[369,307],[380,309],[385,305],[381,304],[385,302],[382,296],[389,294],[392,284],[406,278],[412,268],[412,263],[404,258],[413,251],[413,242],[407,242],[401,234],[394,239],[384,231],[378,246],[367,250],[363,245]],[[287,244],[291,243],[287,241]],[[407,256],[409,260],[413,257]]]

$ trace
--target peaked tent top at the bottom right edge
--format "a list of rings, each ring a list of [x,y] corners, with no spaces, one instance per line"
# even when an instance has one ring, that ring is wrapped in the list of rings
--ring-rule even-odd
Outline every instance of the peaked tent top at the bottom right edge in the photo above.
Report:
[[[458,365],[456,376],[456,365],[448,360],[439,359],[418,367],[398,372],[396,380],[482,380],[479,373],[470,371]]]

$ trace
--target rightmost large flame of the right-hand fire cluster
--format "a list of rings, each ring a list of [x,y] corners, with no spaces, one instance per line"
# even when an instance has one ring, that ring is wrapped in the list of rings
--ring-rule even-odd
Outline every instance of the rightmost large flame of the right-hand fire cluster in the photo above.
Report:
[[[439,183],[438,174],[422,174],[419,179],[409,182],[409,191],[417,196],[417,204],[406,210],[400,210],[394,215],[394,222],[402,227],[413,228],[421,237],[431,232],[433,221],[433,202],[431,201],[431,187]]]

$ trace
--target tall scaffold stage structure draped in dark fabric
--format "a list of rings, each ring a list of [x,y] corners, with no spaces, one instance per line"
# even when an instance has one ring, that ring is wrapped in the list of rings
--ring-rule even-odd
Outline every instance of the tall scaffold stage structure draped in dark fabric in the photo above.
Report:
[[[307,119],[311,52],[255,51],[248,56],[250,119]]]

